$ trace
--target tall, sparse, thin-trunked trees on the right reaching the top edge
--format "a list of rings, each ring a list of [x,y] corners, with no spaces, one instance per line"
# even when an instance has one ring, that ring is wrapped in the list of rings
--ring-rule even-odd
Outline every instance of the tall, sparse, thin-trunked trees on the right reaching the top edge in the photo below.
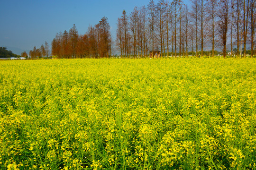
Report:
[[[161,56],[196,56],[221,48],[226,56],[227,43],[231,54],[251,44],[254,54],[256,0],[191,0],[191,8],[182,0],[150,0],[147,7],[135,7],[118,18],[116,46],[123,57],[143,57],[148,51],[161,49]],[[249,42],[249,43],[248,43]],[[243,47],[242,47],[243,45]],[[240,51],[240,52],[239,52]]]

